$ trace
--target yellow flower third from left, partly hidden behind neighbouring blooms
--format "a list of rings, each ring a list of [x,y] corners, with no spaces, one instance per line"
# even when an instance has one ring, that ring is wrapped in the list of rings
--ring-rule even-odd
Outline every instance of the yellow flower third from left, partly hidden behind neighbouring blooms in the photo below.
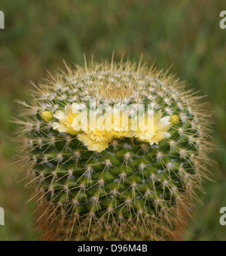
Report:
[[[122,137],[133,137],[131,131],[131,120],[127,113],[121,112],[120,109],[114,109],[111,113],[111,133],[113,137],[119,139]]]

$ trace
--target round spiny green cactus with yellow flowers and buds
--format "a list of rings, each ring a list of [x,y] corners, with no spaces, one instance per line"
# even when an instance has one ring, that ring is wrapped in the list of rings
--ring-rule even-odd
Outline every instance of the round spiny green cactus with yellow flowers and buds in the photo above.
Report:
[[[43,239],[175,239],[209,162],[199,97],[174,76],[129,61],[66,68],[35,86],[16,121]],[[124,114],[101,119],[110,131],[81,127],[84,109],[90,120],[97,107],[107,106],[102,118],[115,104],[128,107],[128,129]],[[145,116],[133,128],[141,105],[144,115],[151,106],[151,122]]]

